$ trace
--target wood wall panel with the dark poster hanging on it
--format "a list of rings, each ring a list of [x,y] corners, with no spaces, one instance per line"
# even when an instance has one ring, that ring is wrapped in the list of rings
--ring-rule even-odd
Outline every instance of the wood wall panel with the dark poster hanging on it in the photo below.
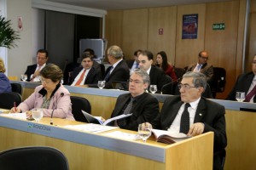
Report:
[[[183,14],[198,14],[197,39],[182,39]],[[206,4],[177,6],[176,67],[197,62],[198,53],[204,49]]]

